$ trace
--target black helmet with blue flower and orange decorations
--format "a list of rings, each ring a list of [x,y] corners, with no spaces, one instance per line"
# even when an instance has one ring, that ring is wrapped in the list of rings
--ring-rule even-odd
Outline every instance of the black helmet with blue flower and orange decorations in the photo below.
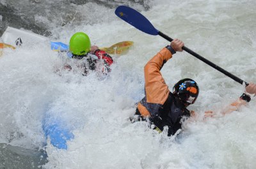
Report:
[[[176,94],[183,103],[193,104],[199,94],[199,87],[190,78],[184,78],[173,86],[173,94]]]

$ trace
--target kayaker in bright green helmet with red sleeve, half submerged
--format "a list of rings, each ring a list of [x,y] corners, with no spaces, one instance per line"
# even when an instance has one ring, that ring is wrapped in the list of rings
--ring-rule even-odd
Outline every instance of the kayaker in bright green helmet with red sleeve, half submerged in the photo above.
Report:
[[[83,60],[83,75],[87,75],[89,70],[102,71],[107,74],[111,71],[110,66],[113,64],[112,57],[99,47],[91,46],[90,38],[87,34],[78,32],[73,34],[69,41],[68,57]],[[99,65],[100,66],[97,66]],[[65,70],[72,70],[69,64],[65,64]]]

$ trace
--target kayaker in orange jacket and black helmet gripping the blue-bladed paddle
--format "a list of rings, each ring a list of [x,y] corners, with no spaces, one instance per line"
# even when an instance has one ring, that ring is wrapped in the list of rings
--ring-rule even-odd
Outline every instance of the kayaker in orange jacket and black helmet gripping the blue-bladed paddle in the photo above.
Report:
[[[138,103],[134,117],[130,118],[132,122],[148,120],[150,127],[159,132],[163,131],[164,126],[168,126],[168,136],[171,136],[181,129],[182,119],[187,119],[183,117],[195,115],[195,112],[187,109],[195,103],[199,94],[195,80],[184,78],[177,82],[173,92],[170,92],[160,72],[164,63],[171,59],[173,54],[182,52],[183,46],[182,41],[175,39],[147,62],[144,67],[145,97]],[[255,84],[250,84],[246,91],[256,93]],[[243,94],[234,104],[238,108],[246,101],[250,101],[250,96]],[[225,113],[227,112],[223,112]],[[212,111],[205,112],[205,117],[212,115]]]

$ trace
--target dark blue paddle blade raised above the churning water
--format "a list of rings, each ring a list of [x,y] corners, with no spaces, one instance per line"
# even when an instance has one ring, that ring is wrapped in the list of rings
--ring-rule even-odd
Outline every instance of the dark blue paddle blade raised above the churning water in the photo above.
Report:
[[[115,10],[115,14],[144,33],[158,35],[159,31],[157,31],[146,17],[128,6],[118,6]]]

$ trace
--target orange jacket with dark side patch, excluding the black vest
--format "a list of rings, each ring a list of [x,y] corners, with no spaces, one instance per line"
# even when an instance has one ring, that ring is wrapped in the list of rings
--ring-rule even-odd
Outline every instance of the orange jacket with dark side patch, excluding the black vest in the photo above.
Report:
[[[170,90],[160,70],[170,58],[172,58],[170,50],[163,48],[144,67],[145,98],[138,104],[138,110],[144,117],[157,115],[159,107],[168,98]]]

